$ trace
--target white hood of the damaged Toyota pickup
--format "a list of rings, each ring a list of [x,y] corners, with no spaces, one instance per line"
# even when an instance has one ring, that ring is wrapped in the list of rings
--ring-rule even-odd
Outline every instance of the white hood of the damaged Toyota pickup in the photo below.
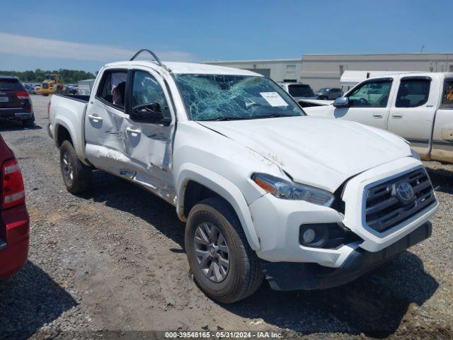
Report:
[[[351,176],[411,156],[401,137],[346,120],[302,116],[198,123],[275,162],[295,182],[331,192]]]

